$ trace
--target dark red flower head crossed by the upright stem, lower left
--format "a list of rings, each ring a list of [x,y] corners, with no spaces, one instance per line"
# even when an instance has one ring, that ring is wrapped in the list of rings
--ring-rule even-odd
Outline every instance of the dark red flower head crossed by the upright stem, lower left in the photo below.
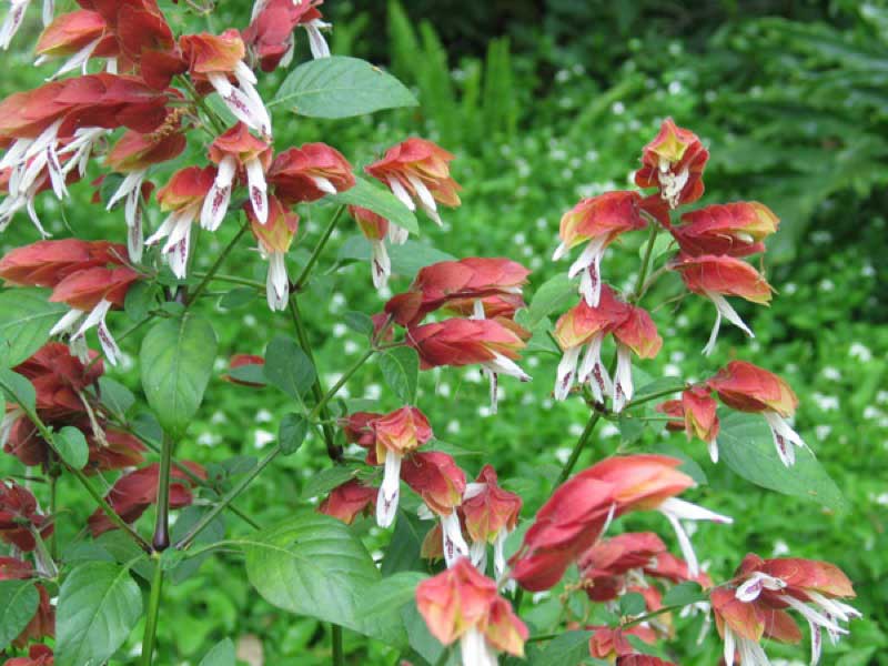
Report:
[[[184,465],[196,476],[206,478],[203,467],[196,463],[186,462]],[[130,472],[118,478],[111,491],[105,495],[111,508],[125,523],[134,523],[149,506],[158,501],[159,474],[160,465],[152,463],[147,467]],[[172,468],[171,477],[174,481],[170,484],[170,508],[189,506],[193,501],[191,494],[193,483],[190,477],[178,467]],[[101,508],[97,508],[95,513],[90,516],[89,527],[93,537],[110,529],[117,529],[117,525],[111,522]]]

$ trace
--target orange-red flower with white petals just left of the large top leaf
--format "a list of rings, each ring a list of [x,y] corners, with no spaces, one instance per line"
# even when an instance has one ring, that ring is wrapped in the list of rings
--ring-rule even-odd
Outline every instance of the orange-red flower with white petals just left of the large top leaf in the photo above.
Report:
[[[246,47],[240,33],[229,29],[219,36],[185,34],[179,38],[179,46],[192,78],[208,81],[238,120],[270,138],[271,115],[255,89],[255,74],[244,62]]]

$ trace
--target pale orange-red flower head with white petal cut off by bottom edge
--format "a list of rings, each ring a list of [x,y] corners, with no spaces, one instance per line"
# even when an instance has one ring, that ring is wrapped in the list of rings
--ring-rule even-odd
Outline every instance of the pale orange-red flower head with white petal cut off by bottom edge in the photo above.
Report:
[[[496,652],[524,655],[527,627],[496,584],[463,557],[416,587],[416,607],[428,630],[444,645],[461,642],[466,665],[496,663]]]

